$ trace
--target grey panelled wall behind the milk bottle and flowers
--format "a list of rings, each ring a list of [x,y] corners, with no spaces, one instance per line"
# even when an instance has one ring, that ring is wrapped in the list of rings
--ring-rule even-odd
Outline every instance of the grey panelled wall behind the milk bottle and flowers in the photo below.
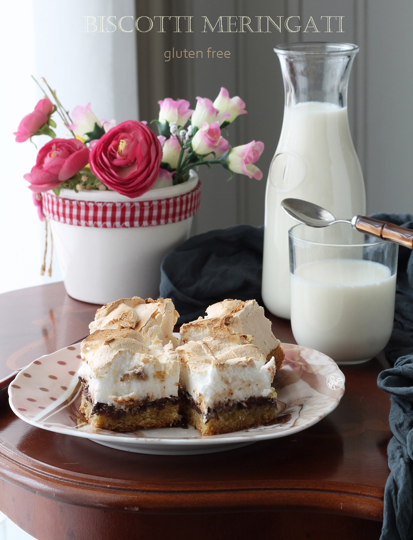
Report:
[[[239,95],[248,115],[230,126],[232,145],[262,140],[265,150],[258,162],[263,179],[240,175],[227,182],[227,171],[203,169],[201,211],[192,233],[239,223],[261,225],[264,219],[265,182],[281,131],[284,91],[278,59],[273,48],[295,41],[356,43],[358,53],[349,90],[349,119],[367,188],[368,213],[413,212],[413,3],[410,0],[137,0],[139,15],[193,15],[193,33],[138,33],[139,110],[141,119],[155,118],[157,100],[170,96],[196,96],[214,100],[221,86]],[[228,15],[287,18],[299,16],[306,25],[312,16],[319,32],[203,33],[202,16],[214,23]],[[321,16],[343,16],[338,23]],[[293,19],[297,21],[297,19]],[[291,22],[293,22],[293,20]],[[295,23],[292,24],[294,27]],[[231,51],[229,60],[174,59],[163,53],[175,50],[214,49]]]

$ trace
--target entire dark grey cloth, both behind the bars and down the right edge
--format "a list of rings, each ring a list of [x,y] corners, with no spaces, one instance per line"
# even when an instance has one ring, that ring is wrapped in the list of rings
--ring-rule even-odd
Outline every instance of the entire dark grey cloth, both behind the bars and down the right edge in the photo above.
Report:
[[[410,214],[373,217],[413,229]],[[255,298],[262,305],[263,228],[239,225],[192,237],[162,262],[161,296],[171,298],[179,324],[204,315],[225,298]],[[391,394],[390,475],[384,493],[381,540],[413,539],[413,253],[399,247],[393,332],[385,349],[394,367],[378,376]]]

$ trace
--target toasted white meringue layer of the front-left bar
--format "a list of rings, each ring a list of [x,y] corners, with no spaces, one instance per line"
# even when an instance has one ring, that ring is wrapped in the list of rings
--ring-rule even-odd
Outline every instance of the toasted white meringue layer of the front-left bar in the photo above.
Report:
[[[135,330],[96,330],[81,343],[78,376],[92,403],[118,407],[178,395],[179,361],[171,342],[148,347]]]

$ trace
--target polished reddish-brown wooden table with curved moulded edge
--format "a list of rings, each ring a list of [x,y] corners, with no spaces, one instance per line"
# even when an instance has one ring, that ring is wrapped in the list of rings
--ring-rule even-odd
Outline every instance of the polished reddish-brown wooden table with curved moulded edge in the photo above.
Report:
[[[0,295],[0,378],[83,338],[96,306],[62,283]],[[294,342],[289,321],[275,335]],[[35,428],[0,411],[0,510],[41,540],[379,537],[389,396],[377,359],[343,367],[335,411],[292,436],[153,456]]]

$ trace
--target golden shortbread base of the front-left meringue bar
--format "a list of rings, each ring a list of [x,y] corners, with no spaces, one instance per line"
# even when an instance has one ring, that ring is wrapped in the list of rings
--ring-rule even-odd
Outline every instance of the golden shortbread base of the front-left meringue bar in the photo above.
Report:
[[[138,413],[125,413],[120,418],[107,414],[92,414],[92,403],[82,394],[79,406],[91,426],[111,431],[135,431],[135,429],[163,428],[172,426],[178,421],[178,404],[166,403],[161,410],[148,405],[146,410]]]

